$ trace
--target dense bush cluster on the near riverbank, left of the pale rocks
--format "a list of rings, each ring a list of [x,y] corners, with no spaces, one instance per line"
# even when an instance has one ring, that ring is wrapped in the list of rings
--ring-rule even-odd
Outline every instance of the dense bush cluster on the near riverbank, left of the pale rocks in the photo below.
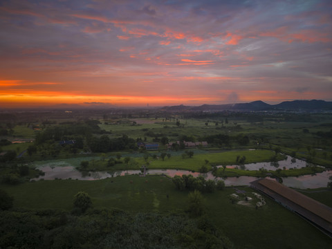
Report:
[[[225,188],[225,183],[222,180],[205,180],[203,176],[198,176],[195,178],[191,174],[174,176],[172,178],[172,182],[178,190],[198,190],[200,192],[212,193],[215,190],[223,190]]]

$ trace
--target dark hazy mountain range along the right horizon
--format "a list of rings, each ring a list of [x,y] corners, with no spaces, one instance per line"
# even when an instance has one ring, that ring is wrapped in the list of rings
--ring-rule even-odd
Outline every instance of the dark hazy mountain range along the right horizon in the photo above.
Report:
[[[203,104],[199,107],[184,105],[163,107],[166,111],[315,111],[332,110],[332,102],[324,100],[293,100],[279,104],[267,104],[261,100],[238,104]]]

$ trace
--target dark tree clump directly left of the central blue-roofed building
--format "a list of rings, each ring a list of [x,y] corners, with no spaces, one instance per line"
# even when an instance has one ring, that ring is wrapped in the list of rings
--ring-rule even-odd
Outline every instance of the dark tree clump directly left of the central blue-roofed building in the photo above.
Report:
[[[137,149],[136,141],[123,135],[120,138],[109,138],[107,135],[102,135],[100,138],[91,137],[88,140],[88,145],[93,152],[109,152],[120,151],[123,149]]]

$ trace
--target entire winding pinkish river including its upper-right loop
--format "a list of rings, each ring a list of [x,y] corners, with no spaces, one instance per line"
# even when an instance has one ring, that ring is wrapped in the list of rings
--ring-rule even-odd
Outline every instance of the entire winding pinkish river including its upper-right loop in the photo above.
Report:
[[[250,163],[247,165],[242,165],[241,169],[247,170],[258,170],[263,167],[268,170],[281,169],[290,169],[290,168],[301,168],[306,166],[306,162],[303,160],[296,160],[295,163],[291,162],[291,158],[288,157],[286,160],[279,161],[279,166],[271,165],[270,163]],[[240,167],[238,165],[228,165],[227,167]],[[125,176],[132,174],[140,174],[140,170],[123,170],[115,172],[89,172],[87,174],[82,174],[79,172],[73,165],[66,162],[57,162],[57,163],[46,163],[44,165],[39,165],[38,169],[42,170],[45,173],[44,176],[39,176],[33,180],[38,181],[40,179],[44,180],[55,180],[55,179],[77,179],[77,180],[100,180],[104,178],[111,178],[116,176]],[[188,170],[182,169],[149,169],[146,174],[164,174],[167,176],[182,176],[183,174],[192,174],[192,176],[204,176],[207,179],[219,179],[212,176],[211,172],[206,174],[201,174],[199,172],[190,172]],[[295,187],[298,189],[314,189],[318,187],[326,187],[329,182],[329,177],[332,176],[332,170],[325,171],[322,173],[317,173],[315,175],[306,175],[306,176],[297,176],[297,177],[286,177],[282,178],[284,185],[288,187]],[[239,177],[228,177],[222,179],[225,181],[226,186],[236,186],[236,185],[250,185],[250,182],[255,181],[257,178],[252,176],[239,176]]]

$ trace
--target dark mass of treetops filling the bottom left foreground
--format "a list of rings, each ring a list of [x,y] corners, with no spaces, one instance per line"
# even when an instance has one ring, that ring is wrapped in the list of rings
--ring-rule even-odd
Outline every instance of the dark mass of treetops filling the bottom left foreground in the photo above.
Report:
[[[206,216],[183,213],[9,210],[0,223],[0,248],[234,248]]]

